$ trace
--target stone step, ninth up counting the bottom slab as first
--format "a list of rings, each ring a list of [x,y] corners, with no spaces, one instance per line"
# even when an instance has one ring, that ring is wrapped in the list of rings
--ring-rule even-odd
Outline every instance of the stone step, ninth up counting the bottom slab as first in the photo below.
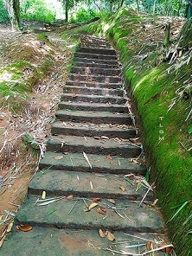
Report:
[[[111,104],[125,104],[126,99],[118,96],[97,96],[97,95],[83,95],[83,94],[74,94],[74,93],[62,93],[62,101],[83,101],[90,103],[111,103]]]

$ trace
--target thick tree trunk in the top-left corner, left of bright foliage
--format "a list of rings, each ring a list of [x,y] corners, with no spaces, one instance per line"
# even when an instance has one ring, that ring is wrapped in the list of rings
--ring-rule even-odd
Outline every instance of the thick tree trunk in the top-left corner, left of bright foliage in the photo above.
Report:
[[[10,16],[10,23],[13,30],[18,30],[20,26],[20,3],[19,0],[3,0]]]

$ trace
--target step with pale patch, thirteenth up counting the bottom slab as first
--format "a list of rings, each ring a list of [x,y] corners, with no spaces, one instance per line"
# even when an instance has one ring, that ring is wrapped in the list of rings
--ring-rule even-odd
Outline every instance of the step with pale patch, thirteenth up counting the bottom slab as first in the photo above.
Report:
[[[72,74],[84,74],[84,75],[119,75],[121,70],[119,68],[99,68],[99,67],[72,67]]]

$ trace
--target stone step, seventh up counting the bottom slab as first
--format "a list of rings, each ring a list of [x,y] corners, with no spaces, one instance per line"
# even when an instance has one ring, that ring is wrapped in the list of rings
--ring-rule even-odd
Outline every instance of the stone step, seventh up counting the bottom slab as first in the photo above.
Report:
[[[90,122],[93,124],[119,124],[132,125],[131,115],[128,113],[116,112],[88,112],[74,111],[71,109],[58,110],[55,113],[58,120],[65,122]]]

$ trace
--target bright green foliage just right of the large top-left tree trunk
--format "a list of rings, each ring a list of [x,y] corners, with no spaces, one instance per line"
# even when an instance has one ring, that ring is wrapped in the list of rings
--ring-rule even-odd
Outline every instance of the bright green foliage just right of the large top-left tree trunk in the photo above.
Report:
[[[55,13],[48,9],[43,0],[27,0],[21,2],[21,18],[39,22],[54,22]]]

